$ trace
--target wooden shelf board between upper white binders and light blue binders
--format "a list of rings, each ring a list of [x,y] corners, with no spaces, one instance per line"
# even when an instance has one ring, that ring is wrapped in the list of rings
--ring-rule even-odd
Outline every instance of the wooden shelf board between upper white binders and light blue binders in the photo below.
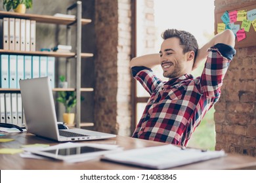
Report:
[[[14,50],[3,50],[0,49],[0,54],[17,54],[24,56],[52,56],[56,58],[74,58],[76,55],[73,52],[28,52],[28,51],[14,51]],[[90,58],[93,57],[91,53],[81,53],[81,58]]]

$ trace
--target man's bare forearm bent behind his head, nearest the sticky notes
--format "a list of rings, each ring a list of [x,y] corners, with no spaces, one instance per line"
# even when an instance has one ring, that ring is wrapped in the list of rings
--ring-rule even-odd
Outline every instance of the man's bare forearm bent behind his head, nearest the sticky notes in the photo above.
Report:
[[[218,43],[227,44],[234,48],[235,45],[234,33],[230,29],[226,29],[225,31],[218,33],[211,39],[211,41],[207,42],[202,48],[198,50],[198,56],[196,56],[196,61],[193,65],[193,70],[196,69],[202,61],[205,61],[205,58],[208,55],[207,50]]]

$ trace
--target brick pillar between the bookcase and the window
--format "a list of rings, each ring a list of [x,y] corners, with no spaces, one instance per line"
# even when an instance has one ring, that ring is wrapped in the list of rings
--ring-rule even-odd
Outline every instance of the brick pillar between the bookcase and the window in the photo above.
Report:
[[[130,135],[131,2],[95,1],[95,128]]]

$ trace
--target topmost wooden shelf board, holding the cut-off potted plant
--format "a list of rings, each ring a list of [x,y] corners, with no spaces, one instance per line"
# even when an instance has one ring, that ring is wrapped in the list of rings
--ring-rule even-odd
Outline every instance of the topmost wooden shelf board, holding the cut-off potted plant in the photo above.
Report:
[[[24,18],[28,20],[35,20],[37,22],[41,23],[47,23],[47,24],[61,24],[61,25],[69,25],[74,24],[76,21],[75,18],[62,18],[62,17],[56,17],[56,16],[50,16],[50,15],[41,15],[41,14],[20,14],[16,12],[6,12],[6,11],[0,11],[0,18]],[[90,19],[81,19],[81,24],[86,25],[91,23]]]

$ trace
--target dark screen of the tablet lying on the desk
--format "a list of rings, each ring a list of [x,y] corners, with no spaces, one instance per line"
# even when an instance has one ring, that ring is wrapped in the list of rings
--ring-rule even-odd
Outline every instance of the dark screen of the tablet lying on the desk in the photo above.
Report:
[[[60,156],[70,156],[75,154],[87,154],[90,152],[99,152],[104,150],[106,149],[94,148],[90,146],[81,146],[81,147],[75,147],[75,148],[60,148],[60,149],[54,149],[54,150],[45,150],[44,152],[48,152],[48,153],[56,154]]]

